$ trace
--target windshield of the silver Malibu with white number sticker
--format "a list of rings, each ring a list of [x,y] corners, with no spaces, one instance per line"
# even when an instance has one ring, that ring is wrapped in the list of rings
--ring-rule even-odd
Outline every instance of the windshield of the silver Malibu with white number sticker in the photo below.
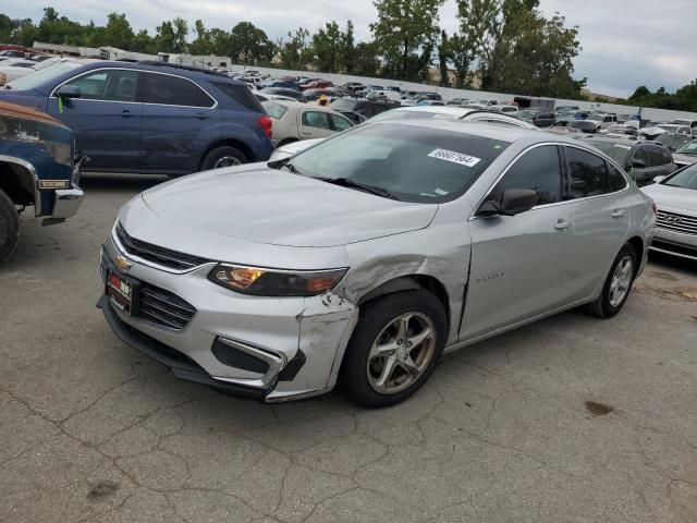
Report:
[[[289,168],[305,177],[368,185],[403,202],[437,204],[464,194],[509,145],[460,132],[374,123],[294,156]]]

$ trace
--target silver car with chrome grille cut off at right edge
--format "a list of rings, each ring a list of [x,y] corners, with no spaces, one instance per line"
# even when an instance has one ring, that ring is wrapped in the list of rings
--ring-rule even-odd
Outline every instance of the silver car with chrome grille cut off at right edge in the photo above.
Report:
[[[697,260],[697,163],[641,188],[658,207],[651,250]]]

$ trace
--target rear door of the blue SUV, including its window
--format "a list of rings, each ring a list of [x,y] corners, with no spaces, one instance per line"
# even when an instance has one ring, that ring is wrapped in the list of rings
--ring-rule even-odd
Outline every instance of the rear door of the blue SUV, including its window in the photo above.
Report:
[[[180,173],[198,170],[211,137],[222,136],[217,100],[189,78],[143,73],[140,169]],[[212,136],[211,136],[212,135]]]

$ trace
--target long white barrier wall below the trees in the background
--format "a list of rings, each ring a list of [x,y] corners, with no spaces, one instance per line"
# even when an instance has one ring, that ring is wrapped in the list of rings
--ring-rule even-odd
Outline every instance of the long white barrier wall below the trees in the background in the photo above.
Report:
[[[374,84],[382,86],[396,86],[402,90],[433,90],[439,93],[443,100],[450,100],[452,98],[491,98],[499,101],[513,101],[514,96],[518,95],[505,95],[501,93],[488,93],[485,90],[468,90],[468,89],[454,89],[451,87],[437,87],[435,85],[417,84],[414,82],[400,82],[395,80],[386,78],[369,78],[364,76],[352,76],[348,74],[332,74],[332,73],[319,73],[316,71],[289,71],[285,69],[270,69],[270,68],[257,68],[254,65],[232,65],[231,70],[235,72],[242,72],[245,69],[259,71],[261,74],[268,74],[270,76],[310,76],[321,77],[323,80],[331,81],[334,85],[342,85],[346,82],[360,82],[364,85]],[[521,95],[523,96],[523,95]],[[595,101],[584,100],[564,100],[557,99],[558,106],[578,106],[582,109],[599,109],[601,111],[616,112],[617,114],[636,114],[638,107],[636,106],[620,106],[616,104],[597,104]],[[685,111],[670,111],[667,109],[652,109],[644,108],[641,110],[641,118],[646,120],[655,121],[670,121],[675,118],[686,118],[697,120],[697,113]]]

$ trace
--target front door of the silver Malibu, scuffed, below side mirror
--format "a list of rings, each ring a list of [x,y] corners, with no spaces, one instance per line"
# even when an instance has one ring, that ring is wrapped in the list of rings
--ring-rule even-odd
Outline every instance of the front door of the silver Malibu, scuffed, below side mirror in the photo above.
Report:
[[[527,150],[490,197],[506,188],[535,190],[538,204],[516,216],[475,214],[469,220],[472,264],[463,340],[552,311],[564,301],[561,287],[572,243],[572,207],[562,202],[559,148]]]

